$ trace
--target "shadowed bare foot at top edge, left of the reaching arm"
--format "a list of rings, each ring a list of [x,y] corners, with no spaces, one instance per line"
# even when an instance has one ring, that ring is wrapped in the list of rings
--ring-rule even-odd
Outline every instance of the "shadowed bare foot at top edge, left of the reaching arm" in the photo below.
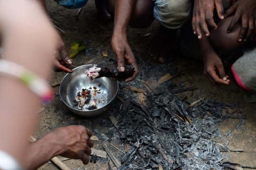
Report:
[[[99,17],[108,21],[112,18],[112,12],[108,4],[108,0],[95,0],[95,6],[98,10]]]

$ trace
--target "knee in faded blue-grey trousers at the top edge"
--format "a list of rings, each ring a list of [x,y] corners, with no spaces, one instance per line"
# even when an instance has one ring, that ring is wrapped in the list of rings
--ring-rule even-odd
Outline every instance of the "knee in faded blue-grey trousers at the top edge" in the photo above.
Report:
[[[190,18],[190,0],[156,0],[154,17],[165,27],[178,29]]]

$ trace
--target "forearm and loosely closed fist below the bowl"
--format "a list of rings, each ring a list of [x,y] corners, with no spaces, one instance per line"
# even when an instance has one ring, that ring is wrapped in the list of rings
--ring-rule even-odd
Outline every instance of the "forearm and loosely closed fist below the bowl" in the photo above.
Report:
[[[55,156],[89,163],[93,142],[91,130],[82,125],[60,127],[31,143],[26,155],[26,170],[36,170]]]

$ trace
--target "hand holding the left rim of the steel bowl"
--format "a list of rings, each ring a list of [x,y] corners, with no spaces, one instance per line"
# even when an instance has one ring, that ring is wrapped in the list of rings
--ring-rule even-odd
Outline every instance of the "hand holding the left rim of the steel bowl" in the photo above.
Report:
[[[59,56],[55,56],[54,60],[54,71],[72,73],[74,68],[73,61],[69,58],[65,44],[60,36],[58,37],[58,53]]]

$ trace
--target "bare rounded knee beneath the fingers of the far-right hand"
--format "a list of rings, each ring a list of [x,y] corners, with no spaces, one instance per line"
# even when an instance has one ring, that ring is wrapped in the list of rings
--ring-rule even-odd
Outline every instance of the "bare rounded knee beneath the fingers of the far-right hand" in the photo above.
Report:
[[[210,33],[210,44],[217,53],[229,53],[244,44],[238,42],[240,24],[237,24],[231,33],[227,33],[231,19],[232,17],[223,19],[218,23],[218,28]]]

